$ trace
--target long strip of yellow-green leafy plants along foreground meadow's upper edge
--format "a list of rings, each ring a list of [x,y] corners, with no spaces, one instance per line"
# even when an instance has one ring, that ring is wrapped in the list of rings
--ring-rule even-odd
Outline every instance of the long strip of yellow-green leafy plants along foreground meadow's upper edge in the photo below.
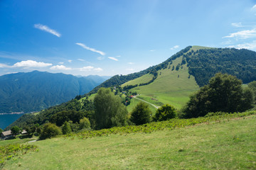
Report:
[[[78,134],[65,135],[64,137],[79,137],[80,139],[87,139],[88,137],[101,137],[108,135],[126,135],[130,133],[150,133],[158,130],[173,130],[175,128],[184,128],[200,123],[212,123],[226,121],[233,118],[242,118],[248,115],[255,115],[256,111],[247,111],[243,113],[233,113],[224,115],[214,115],[210,117],[191,118],[191,119],[171,119],[163,122],[147,123],[144,125],[130,125],[125,127],[114,127],[102,130],[88,130]]]

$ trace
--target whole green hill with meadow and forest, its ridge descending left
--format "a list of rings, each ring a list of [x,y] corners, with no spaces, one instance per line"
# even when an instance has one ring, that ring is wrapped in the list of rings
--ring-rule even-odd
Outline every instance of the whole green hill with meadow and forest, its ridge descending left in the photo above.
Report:
[[[23,115],[12,125],[22,126],[33,123],[41,125],[47,120],[51,121],[53,115],[62,111],[70,111],[70,113],[73,110],[91,111],[94,96],[92,94],[95,94],[100,87],[116,86],[120,89],[121,86],[123,91],[136,91],[139,96],[132,98],[127,106],[128,111],[132,111],[132,108],[139,103],[139,99],[155,106],[169,103],[180,109],[191,94],[204,84],[208,84],[208,80],[218,72],[235,75],[242,79],[243,83],[255,81],[256,52],[235,48],[188,46],[161,64],[133,74],[116,75],[96,86],[83,98],[75,98],[60,106],[41,111],[38,115]],[[151,106],[151,110],[156,111],[156,108]]]

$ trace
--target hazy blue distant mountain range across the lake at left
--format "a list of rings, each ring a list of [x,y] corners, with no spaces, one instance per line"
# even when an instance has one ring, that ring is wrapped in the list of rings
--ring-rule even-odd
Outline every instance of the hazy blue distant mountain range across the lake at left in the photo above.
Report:
[[[41,111],[86,94],[108,78],[38,71],[6,74],[0,77],[0,113]]]

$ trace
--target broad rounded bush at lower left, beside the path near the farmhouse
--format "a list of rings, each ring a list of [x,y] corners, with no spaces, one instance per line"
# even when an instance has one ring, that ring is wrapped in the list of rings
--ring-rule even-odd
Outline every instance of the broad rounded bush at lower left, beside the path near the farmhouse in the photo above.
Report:
[[[57,125],[53,123],[46,123],[43,125],[41,135],[39,137],[40,140],[45,140],[46,138],[55,137],[57,135],[61,135],[62,132]]]

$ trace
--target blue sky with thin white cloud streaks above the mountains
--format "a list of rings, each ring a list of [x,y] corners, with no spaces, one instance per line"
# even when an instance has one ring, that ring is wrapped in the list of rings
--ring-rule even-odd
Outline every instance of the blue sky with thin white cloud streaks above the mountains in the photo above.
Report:
[[[139,72],[188,45],[256,50],[256,1],[0,0],[0,75]]]

